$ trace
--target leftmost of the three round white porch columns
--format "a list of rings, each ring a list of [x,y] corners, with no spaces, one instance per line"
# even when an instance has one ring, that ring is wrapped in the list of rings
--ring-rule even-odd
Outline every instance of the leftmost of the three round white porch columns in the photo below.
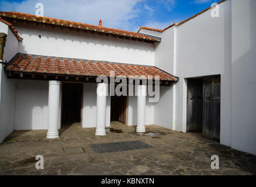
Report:
[[[58,117],[60,107],[60,81],[49,81],[48,132],[47,138],[58,137]]]

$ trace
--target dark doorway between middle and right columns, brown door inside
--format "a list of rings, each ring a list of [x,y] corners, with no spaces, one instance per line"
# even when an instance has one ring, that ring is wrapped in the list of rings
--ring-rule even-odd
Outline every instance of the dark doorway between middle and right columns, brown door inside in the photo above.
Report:
[[[127,96],[111,96],[110,121],[126,124]]]

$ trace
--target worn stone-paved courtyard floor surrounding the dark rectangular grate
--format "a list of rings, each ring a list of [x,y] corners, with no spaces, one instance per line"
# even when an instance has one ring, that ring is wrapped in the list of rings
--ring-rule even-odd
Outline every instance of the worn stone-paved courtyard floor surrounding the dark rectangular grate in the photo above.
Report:
[[[46,139],[47,130],[14,131],[0,144],[0,175],[255,175],[256,157],[222,146],[199,133],[180,133],[113,122],[106,136],[95,128],[74,123],[60,130],[60,138]],[[92,144],[141,140],[151,146],[137,150],[95,153]],[[44,169],[35,168],[43,155]],[[219,169],[210,167],[219,156]]]

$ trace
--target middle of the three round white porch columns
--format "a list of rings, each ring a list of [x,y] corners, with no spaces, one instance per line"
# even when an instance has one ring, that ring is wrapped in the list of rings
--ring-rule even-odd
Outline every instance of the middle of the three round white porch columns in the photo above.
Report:
[[[107,95],[108,84],[98,83],[97,84],[97,119],[96,119],[96,131],[95,135],[103,136],[106,135],[106,95]]]

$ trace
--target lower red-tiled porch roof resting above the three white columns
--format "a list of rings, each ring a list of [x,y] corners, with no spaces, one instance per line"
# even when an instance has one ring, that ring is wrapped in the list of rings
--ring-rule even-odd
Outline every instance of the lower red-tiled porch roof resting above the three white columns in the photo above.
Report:
[[[33,72],[39,74],[57,74],[57,75],[78,75],[78,76],[92,76],[98,77],[106,75],[110,77],[110,71],[115,71],[115,77],[117,75],[123,75],[126,78],[132,76],[139,78],[141,76],[149,75],[160,76],[160,80],[164,81],[178,81],[178,78],[164,72],[156,67],[132,65],[132,64],[117,64],[106,62],[92,62],[84,60],[68,60],[64,58],[60,60],[57,57],[45,57],[32,55],[19,54],[11,65],[5,68],[7,71],[15,72]]]

